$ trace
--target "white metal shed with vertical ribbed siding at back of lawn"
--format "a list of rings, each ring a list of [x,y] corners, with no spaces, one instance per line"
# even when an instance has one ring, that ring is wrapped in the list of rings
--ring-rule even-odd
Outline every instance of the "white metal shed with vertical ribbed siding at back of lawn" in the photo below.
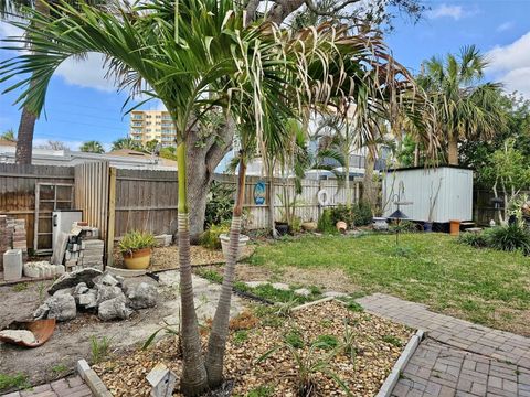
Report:
[[[395,169],[382,182],[384,216],[398,210],[395,202],[409,202],[400,208],[411,221],[473,219],[473,170],[451,165]]]

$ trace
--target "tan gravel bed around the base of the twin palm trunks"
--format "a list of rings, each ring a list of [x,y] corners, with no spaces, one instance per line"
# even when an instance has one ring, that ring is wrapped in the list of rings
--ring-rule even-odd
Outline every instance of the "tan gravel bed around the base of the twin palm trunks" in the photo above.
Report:
[[[268,319],[268,320],[267,320]],[[268,358],[258,362],[266,352],[285,343],[287,334],[297,333],[304,346],[297,352],[303,360],[309,358],[310,345],[322,335],[342,341],[346,323],[354,333],[356,356],[353,361],[343,350],[331,354],[329,369],[343,380],[353,396],[374,396],[413,330],[365,312],[350,311],[337,301],[322,302],[297,311],[288,318],[259,318],[255,326],[242,337],[241,323],[232,321],[240,331],[232,330],[225,356],[225,376],[234,382],[232,395],[245,396],[250,391],[267,390],[263,396],[296,396],[297,366],[287,348],[282,348]],[[244,333],[244,332],[243,332]],[[206,335],[203,335],[203,343]],[[314,360],[330,355],[329,350],[316,348]],[[166,336],[147,351],[131,351],[114,360],[94,365],[114,396],[148,396],[150,387],[146,375],[158,363],[163,363],[176,374],[181,373],[181,362],[176,336]],[[342,396],[346,391],[322,372],[315,374],[317,395]],[[262,394],[258,394],[262,396]],[[174,396],[180,396],[178,390]]]

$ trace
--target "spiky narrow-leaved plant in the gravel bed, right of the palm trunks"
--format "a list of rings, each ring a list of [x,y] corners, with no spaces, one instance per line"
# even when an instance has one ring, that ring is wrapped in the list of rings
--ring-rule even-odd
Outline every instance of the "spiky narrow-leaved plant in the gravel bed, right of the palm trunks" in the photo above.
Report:
[[[314,342],[307,352],[293,347],[288,343],[276,346],[264,355],[262,355],[257,363],[261,363],[279,350],[287,350],[295,362],[297,371],[297,395],[298,396],[314,396],[318,394],[317,374],[325,374],[337,383],[348,396],[351,396],[350,389],[346,383],[331,371],[331,361],[337,356],[340,346],[332,348],[325,355],[318,353],[319,350],[327,350],[328,345],[322,342]]]

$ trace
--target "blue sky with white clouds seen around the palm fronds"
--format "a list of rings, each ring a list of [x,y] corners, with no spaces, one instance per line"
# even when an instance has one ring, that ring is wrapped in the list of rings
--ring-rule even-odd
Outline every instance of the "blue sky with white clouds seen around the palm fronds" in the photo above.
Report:
[[[487,79],[501,82],[507,92],[518,90],[530,99],[530,0],[423,2],[428,10],[420,22],[398,17],[394,31],[386,34],[399,62],[417,73],[423,60],[475,44],[490,61]],[[0,22],[0,39],[12,34],[15,29]],[[13,55],[0,50],[0,61]],[[104,75],[97,54],[61,65],[49,87],[45,114],[35,126],[35,144],[61,140],[76,150],[83,141],[98,140],[108,149],[112,141],[127,135],[126,94],[117,93]],[[0,83],[0,92],[9,85]],[[15,98],[17,93],[0,95],[0,133],[18,129]],[[159,109],[160,104],[151,101],[142,108]]]

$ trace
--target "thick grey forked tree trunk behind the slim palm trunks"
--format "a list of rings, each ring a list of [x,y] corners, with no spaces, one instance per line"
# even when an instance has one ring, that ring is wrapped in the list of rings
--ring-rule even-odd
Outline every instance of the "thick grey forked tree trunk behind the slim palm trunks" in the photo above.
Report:
[[[233,137],[234,124],[231,119],[206,140],[199,131],[190,131],[187,136],[188,200],[193,203],[193,211],[190,213],[192,244],[197,244],[204,232],[204,213],[210,184],[213,181],[215,168],[232,148]]]

